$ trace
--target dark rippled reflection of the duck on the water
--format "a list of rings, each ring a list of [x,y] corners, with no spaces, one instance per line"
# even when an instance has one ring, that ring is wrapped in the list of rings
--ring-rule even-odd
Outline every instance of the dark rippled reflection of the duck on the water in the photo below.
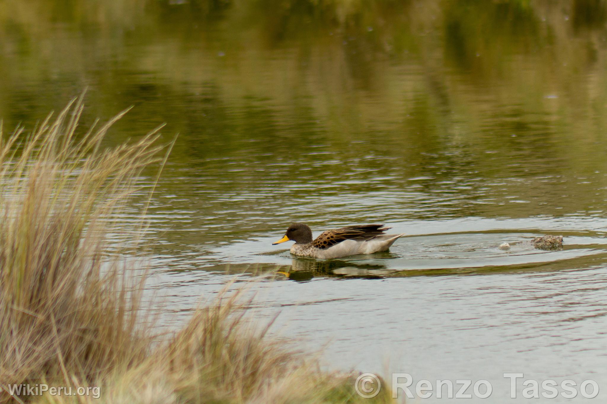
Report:
[[[277,273],[297,282],[305,282],[313,277],[337,277],[357,279],[382,279],[377,270],[385,270],[378,263],[353,263],[344,260],[317,261],[314,259],[293,258],[291,267],[281,268]]]

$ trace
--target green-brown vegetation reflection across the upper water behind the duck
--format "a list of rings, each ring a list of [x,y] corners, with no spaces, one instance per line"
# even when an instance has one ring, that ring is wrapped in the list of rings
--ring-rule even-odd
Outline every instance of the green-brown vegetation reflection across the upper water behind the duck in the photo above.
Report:
[[[575,213],[607,187],[604,21],[594,1],[10,0],[0,115],[29,121],[88,86],[86,119],[135,105],[108,144],[169,122],[180,136],[161,187],[205,217],[198,227],[236,222],[221,197],[232,211],[262,204],[243,193],[283,205],[400,193],[372,212],[387,219]],[[436,199],[412,207],[419,193]],[[315,208],[257,211],[229,237],[333,219]]]

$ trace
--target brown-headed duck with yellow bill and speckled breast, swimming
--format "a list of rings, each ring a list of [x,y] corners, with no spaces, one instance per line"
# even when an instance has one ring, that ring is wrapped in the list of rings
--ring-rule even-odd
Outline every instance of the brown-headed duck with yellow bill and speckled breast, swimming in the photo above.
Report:
[[[356,254],[373,254],[386,251],[405,234],[385,234],[391,227],[384,225],[353,225],[327,230],[312,239],[312,230],[303,223],[289,226],[282,239],[272,243],[277,245],[294,241],[291,254],[320,259],[341,258]]]

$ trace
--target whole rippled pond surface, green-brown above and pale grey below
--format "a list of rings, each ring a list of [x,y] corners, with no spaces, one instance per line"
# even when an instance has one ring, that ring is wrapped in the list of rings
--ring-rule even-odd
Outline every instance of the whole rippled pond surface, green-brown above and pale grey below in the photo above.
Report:
[[[256,316],[333,368],[489,379],[494,402],[503,372],[607,386],[605,2],[0,5],[5,131],[86,88],[84,126],[134,106],[107,145],[178,133],[150,215],[168,323],[278,268]],[[407,236],[295,259],[271,245],[293,221]]]

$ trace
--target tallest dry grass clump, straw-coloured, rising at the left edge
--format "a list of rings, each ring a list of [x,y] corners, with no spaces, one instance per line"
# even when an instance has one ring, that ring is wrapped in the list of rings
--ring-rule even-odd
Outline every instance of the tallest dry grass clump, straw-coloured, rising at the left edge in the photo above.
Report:
[[[124,210],[141,170],[158,161],[157,134],[103,148],[120,115],[76,136],[82,111],[81,100],[73,101],[33,134],[18,128],[0,144],[4,387],[86,384],[149,351],[150,329],[139,316],[143,278],[107,260],[106,219]]]

